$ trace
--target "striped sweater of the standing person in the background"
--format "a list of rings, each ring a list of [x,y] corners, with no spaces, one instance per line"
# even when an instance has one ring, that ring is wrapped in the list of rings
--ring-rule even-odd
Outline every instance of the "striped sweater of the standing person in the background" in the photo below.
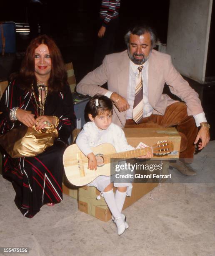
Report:
[[[120,0],[102,0],[100,8],[100,18],[103,19],[102,26],[107,26],[113,18],[118,17]]]

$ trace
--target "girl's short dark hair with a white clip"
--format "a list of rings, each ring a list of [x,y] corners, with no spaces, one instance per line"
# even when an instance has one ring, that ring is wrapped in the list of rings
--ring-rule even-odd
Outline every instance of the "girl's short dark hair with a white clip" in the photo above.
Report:
[[[113,104],[112,100],[104,95],[96,94],[91,98],[86,106],[86,114],[91,114],[93,118],[104,113],[106,110],[110,110],[110,112],[112,112]]]

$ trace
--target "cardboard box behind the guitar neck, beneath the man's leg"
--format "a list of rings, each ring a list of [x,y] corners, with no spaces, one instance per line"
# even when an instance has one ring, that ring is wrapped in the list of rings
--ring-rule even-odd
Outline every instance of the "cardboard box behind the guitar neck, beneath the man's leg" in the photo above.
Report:
[[[175,128],[123,128],[130,145],[138,146],[141,142],[153,146],[158,141],[173,141],[174,151],[165,156],[154,156],[153,159],[178,159],[181,137]]]

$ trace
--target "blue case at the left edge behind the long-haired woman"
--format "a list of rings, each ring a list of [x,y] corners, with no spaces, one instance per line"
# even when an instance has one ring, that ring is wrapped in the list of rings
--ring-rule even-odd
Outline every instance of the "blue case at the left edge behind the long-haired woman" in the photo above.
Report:
[[[5,53],[16,52],[16,24],[15,22],[3,22],[3,34],[5,37]],[[0,53],[2,53],[2,36],[0,25]]]

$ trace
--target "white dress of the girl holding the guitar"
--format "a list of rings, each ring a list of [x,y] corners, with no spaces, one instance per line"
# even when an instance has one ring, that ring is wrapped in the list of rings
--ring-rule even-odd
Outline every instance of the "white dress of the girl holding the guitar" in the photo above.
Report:
[[[87,156],[92,152],[90,147],[96,147],[102,143],[110,143],[115,147],[116,152],[133,150],[125,138],[125,133],[118,125],[111,123],[106,130],[97,128],[94,122],[88,122],[78,134],[76,144]],[[99,176],[87,186],[96,187],[101,192],[110,184],[110,176]],[[131,196],[131,183],[114,183],[114,187],[127,187],[126,195]]]

